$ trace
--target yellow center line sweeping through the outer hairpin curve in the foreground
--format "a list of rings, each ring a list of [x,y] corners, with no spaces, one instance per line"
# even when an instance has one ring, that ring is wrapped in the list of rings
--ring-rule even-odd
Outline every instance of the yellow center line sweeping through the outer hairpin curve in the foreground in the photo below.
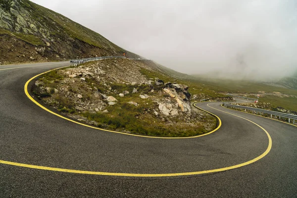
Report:
[[[207,104],[207,106],[209,106]],[[209,106],[210,108],[213,108],[211,106]],[[216,109],[216,108],[213,108]],[[219,109],[216,109],[219,110]],[[219,110],[222,111],[222,110]],[[225,112],[225,111],[222,111]],[[228,113],[228,112],[225,112]],[[234,115],[232,113],[228,113],[231,115]],[[236,117],[240,117],[238,115],[234,115]],[[240,117],[243,118],[243,117]],[[38,165],[31,165],[31,164],[23,164],[23,163],[16,163],[16,162],[11,162],[11,161],[4,161],[4,160],[0,160],[0,163],[3,164],[8,164],[8,165],[14,165],[14,166],[21,166],[21,167],[27,167],[27,168],[34,168],[34,169],[41,169],[41,170],[50,170],[50,171],[59,171],[59,172],[67,172],[67,173],[78,173],[78,174],[90,174],[90,175],[107,175],[107,176],[124,176],[124,177],[173,177],[173,176],[189,176],[189,175],[199,175],[199,174],[207,174],[207,173],[215,173],[215,172],[221,172],[221,171],[226,171],[226,170],[231,170],[231,169],[235,169],[235,168],[240,168],[242,166],[246,166],[248,164],[251,164],[255,161],[258,161],[259,159],[263,158],[265,155],[267,155],[269,153],[269,151],[271,150],[272,147],[272,140],[271,137],[269,135],[269,133],[261,126],[259,126],[258,124],[243,118],[253,124],[255,124],[256,126],[260,127],[267,135],[268,137],[268,147],[266,148],[266,150],[259,156],[257,156],[254,159],[251,159],[247,162],[244,163],[240,163],[237,165],[233,165],[233,166],[228,166],[228,167],[224,167],[224,168],[217,168],[217,169],[211,169],[211,170],[203,170],[203,171],[196,171],[196,172],[183,172],[183,173],[164,173],[164,174],[141,174],[141,173],[112,173],[112,172],[97,172],[97,171],[85,171],[85,170],[73,170],[73,169],[64,169],[64,168],[54,168],[54,167],[47,167],[47,166],[38,166]]]

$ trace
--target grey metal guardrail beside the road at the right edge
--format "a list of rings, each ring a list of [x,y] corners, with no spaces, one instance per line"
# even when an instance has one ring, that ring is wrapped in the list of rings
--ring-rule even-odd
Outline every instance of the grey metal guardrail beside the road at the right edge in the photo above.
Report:
[[[250,111],[253,111],[253,112],[270,114],[271,118],[272,118],[273,115],[278,116],[279,119],[281,117],[288,118],[289,123],[290,123],[290,121],[292,119],[293,124],[295,124],[296,120],[297,120],[297,115],[293,115],[293,114],[287,114],[287,113],[282,113],[282,112],[277,112],[277,111],[270,111],[270,110],[265,110],[265,109],[261,109],[261,108],[253,108],[253,107],[249,107],[249,106],[240,106],[240,105],[230,104],[230,103],[226,103],[226,102],[223,102],[223,104],[226,107],[233,107],[233,108],[245,109],[245,111],[250,110]]]

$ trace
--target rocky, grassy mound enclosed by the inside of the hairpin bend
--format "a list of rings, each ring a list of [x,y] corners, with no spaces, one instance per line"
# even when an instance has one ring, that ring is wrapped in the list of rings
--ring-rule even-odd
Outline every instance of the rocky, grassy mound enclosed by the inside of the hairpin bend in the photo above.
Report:
[[[148,61],[89,62],[51,71],[35,85],[33,92],[44,103],[101,128],[184,137],[216,125],[214,117],[192,105],[187,85],[157,72]]]

